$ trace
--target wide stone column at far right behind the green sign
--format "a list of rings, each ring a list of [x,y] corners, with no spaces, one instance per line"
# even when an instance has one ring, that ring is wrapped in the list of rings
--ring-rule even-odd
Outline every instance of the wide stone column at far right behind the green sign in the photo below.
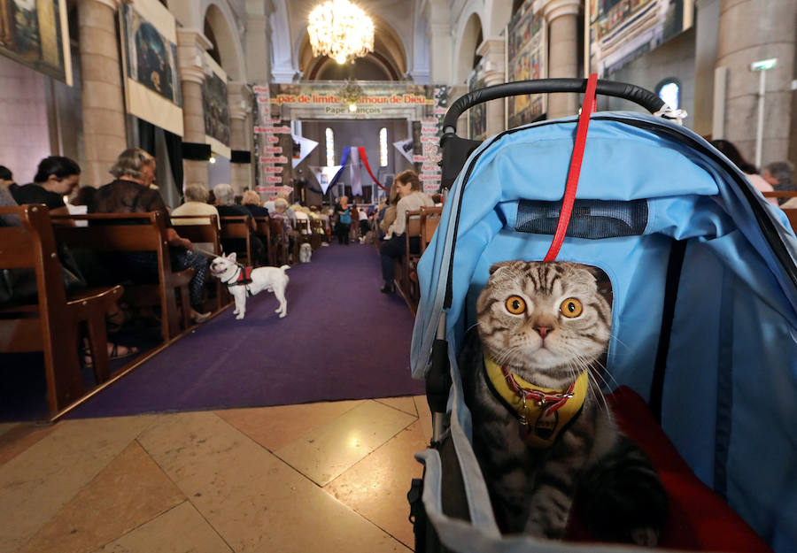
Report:
[[[792,127],[791,83],[797,29],[793,0],[722,0],[717,34],[716,66],[728,68],[724,110],[725,138],[754,162],[760,73],[754,61],[778,58],[766,74],[762,165],[788,156]]]

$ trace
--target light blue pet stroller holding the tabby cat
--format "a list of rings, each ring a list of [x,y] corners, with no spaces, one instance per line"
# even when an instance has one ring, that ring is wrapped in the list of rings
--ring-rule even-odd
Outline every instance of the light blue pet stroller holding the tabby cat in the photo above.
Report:
[[[584,115],[483,143],[458,137],[457,119],[487,100],[584,92],[587,83],[484,88],[445,116],[443,180],[452,188],[418,265],[411,358],[414,377],[427,382],[435,433],[416,456],[424,477],[408,495],[416,551],[649,550],[502,536],[457,367],[490,266],[543,259],[570,211],[565,183]],[[606,380],[644,398],[656,430],[727,511],[771,549],[797,551],[797,240],[785,214],[708,142],[667,119],[657,96],[610,81],[597,81],[597,93],[654,113],[588,111],[557,257],[600,267],[611,280]]]

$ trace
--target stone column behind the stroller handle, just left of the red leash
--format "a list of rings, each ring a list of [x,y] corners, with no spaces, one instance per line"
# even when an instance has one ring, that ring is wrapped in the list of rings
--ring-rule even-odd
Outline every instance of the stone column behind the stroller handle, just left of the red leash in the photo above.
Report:
[[[578,76],[578,10],[580,0],[549,0],[543,7],[548,25],[548,78]],[[549,94],[548,119],[575,115],[575,94]]]

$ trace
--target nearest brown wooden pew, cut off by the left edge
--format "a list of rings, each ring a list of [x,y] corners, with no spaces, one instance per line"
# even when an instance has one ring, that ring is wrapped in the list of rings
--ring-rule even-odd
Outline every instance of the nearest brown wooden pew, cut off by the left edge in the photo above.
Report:
[[[105,313],[122,296],[111,286],[67,295],[50,213],[43,205],[0,208],[21,227],[0,227],[0,268],[35,270],[37,303],[0,307],[0,351],[43,351],[50,414],[84,395],[79,324],[89,331],[97,384],[109,380]]]

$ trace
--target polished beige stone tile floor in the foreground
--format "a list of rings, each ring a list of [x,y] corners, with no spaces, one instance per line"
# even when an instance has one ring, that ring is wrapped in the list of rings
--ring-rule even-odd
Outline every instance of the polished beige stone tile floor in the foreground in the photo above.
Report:
[[[413,548],[423,396],[0,425],[0,553]]]

